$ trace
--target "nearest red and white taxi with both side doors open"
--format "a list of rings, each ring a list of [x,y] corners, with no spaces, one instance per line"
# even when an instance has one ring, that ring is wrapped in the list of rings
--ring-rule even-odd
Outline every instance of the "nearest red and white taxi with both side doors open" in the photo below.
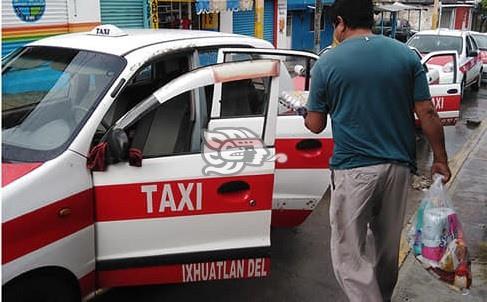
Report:
[[[4,301],[268,276],[271,226],[302,223],[328,187],[331,127],[313,134],[281,108],[295,66],[317,59],[110,25],[9,56]]]

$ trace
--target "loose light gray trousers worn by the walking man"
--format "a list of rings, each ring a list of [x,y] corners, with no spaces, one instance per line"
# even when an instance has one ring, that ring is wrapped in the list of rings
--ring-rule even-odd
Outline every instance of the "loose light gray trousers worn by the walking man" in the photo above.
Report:
[[[352,302],[389,301],[396,285],[410,170],[382,164],[332,171],[331,258]]]

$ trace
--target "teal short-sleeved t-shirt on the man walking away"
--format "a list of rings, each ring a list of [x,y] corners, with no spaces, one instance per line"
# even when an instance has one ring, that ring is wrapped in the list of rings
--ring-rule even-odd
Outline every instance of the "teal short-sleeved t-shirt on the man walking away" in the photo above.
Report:
[[[329,113],[333,169],[399,163],[416,169],[414,102],[431,98],[418,56],[379,35],[353,37],[311,72],[308,111]]]

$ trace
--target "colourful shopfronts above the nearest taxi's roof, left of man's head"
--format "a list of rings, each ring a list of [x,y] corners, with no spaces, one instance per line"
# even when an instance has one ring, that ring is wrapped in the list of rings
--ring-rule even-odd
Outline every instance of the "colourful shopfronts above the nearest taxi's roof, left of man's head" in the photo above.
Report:
[[[324,10],[334,0],[324,0]],[[314,0],[2,0],[2,56],[31,41],[120,28],[183,28],[255,36],[278,48],[314,49]],[[321,22],[321,47],[333,28]]]

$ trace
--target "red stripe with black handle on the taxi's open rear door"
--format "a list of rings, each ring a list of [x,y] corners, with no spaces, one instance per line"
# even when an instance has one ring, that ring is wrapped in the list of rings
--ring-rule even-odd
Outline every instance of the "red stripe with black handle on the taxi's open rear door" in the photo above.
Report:
[[[333,139],[280,138],[276,153],[287,155],[287,161],[276,161],[276,169],[328,169]]]

